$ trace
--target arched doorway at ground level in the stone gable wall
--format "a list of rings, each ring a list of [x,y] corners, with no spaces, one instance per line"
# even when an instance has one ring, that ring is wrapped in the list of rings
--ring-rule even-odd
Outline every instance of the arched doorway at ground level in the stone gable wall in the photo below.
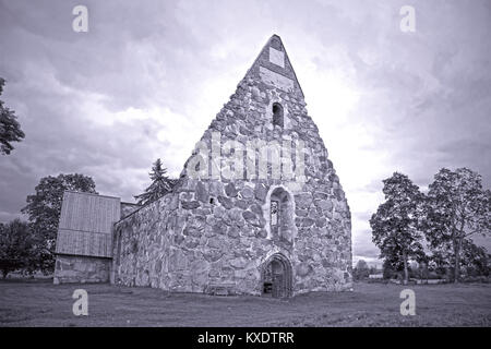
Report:
[[[291,264],[286,256],[276,253],[264,262],[261,273],[263,296],[273,298],[291,297]]]

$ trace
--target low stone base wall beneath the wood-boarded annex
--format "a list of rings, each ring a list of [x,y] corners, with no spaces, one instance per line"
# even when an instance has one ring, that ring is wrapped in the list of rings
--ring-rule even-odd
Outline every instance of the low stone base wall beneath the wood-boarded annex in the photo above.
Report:
[[[109,282],[111,263],[111,258],[59,254],[53,282]]]

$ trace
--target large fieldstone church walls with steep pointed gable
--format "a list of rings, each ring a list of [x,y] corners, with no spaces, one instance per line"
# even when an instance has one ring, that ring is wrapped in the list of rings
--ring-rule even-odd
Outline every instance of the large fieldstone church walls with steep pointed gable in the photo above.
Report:
[[[273,124],[273,103],[284,127]],[[251,149],[254,142],[273,153],[280,145],[279,178],[271,164],[261,169],[264,147]],[[283,226],[272,229],[273,198],[284,210]],[[350,289],[349,207],[279,37],[205,131],[173,192],[118,222],[112,245],[113,281],[122,285],[261,294],[264,263],[280,254],[294,294]]]

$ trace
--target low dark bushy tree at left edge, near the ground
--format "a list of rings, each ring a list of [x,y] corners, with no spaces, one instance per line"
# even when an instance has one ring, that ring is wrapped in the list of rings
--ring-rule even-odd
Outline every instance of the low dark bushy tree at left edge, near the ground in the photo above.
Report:
[[[28,224],[19,218],[0,225],[0,269],[3,278],[17,269],[36,269],[36,239]]]

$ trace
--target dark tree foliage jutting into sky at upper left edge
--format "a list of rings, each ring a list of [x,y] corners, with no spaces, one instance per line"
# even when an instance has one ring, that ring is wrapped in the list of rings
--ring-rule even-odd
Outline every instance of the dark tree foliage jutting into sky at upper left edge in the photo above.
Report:
[[[5,80],[0,77],[0,96],[3,93]],[[16,120],[15,112],[3,106],[0,100],[0,154],[9,155],[13,151],[11,142],[21,142],[25,134]]]

